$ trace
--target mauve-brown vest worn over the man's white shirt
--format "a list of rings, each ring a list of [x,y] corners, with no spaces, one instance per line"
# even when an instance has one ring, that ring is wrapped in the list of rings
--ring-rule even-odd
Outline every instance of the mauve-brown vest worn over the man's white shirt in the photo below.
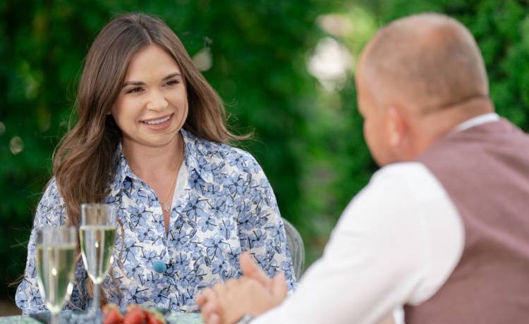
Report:
[[[406,324],[529,323],[529,135],[506,120],[435,142],[418,158],[465,227],[463,254]]]

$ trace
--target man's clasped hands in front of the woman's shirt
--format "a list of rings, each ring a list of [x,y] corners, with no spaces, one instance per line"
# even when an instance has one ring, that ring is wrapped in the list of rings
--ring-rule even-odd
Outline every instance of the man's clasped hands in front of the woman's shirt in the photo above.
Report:
[[[243,315],[260,315],[286,298],[283,274],[268,278],[246,253],[241,256],[241,269],[243,278],[218,283],[197,296],[206,324],[236,323]]]

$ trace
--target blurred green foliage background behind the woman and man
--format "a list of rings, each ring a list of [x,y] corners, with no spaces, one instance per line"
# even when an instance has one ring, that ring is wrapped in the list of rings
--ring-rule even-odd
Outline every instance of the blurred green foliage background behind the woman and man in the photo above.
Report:
[[[158,15],[226,103],[236,133],[298,228],[306,266],[377,169],[362,137],[353,73],[377,27],[447,13],[475,35],[501,116],[529,130],[529,1],[176,0],[0,2],[0,316],[17,313],[32,214],[66,132],[83,59],[109,18]],[[395,237],[395,239],[399,239]]]

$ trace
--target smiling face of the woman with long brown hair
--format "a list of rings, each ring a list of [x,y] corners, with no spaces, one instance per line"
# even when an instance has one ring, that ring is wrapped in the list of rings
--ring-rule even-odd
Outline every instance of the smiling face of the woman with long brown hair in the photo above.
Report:
[[[174,141],[188,116],[186,85],[176,61],[154,44],[138,51],[111,114],[124,146],[164,147]]]

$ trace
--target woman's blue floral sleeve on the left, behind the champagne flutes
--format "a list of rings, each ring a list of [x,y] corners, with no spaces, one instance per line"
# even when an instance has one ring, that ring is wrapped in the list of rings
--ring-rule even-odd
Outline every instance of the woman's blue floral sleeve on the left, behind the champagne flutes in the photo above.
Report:
[[[37,270],[35,268],[35,240],[37,228],[42,226],[59,226],[66,224],[66,205],[59,194],[55,179],[52,179],[47,186],[42,198],[37,206],[33,228],[28,242],[28,258],[25,266],[25,273],[22,282],[16,289],[15,301],[18,308],[23,314],[45,311],[44,300],[39,292],[37,285]],[[82,263],[82,262],[81,262]],[[80,283],[84,282],[82,265],[77,263],[75,270],[75,280],[77,284],[71,295],[70,303],[67,303],[65,309],[84,309],[80,298]]]

